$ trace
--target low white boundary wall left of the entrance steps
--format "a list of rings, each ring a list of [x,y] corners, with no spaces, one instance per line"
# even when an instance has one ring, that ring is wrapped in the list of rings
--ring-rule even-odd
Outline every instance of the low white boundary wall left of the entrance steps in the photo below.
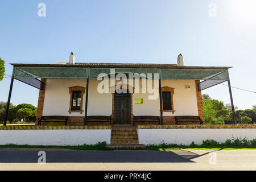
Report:
[[[111,130],[0,130],[0,144],[77,146],[110,143]]]

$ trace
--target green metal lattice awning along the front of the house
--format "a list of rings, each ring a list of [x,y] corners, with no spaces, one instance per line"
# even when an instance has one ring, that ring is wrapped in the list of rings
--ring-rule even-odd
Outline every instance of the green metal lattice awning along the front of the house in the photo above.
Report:
[[[90,68],[68,66],[16,66],[14,78],[97,78],[100,73],[110,75],[110,69],[115,73],[159,73],[162,80],[228,80],[230,67],[171,67],[171,68]],[[152,75],[154,78],[154,75]]]

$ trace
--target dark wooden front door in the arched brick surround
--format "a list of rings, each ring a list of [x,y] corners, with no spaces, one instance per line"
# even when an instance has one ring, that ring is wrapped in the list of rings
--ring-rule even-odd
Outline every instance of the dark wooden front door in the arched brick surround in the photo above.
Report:
[[[114,125],[130,125],[131,98],[129,93],[114,94]]]

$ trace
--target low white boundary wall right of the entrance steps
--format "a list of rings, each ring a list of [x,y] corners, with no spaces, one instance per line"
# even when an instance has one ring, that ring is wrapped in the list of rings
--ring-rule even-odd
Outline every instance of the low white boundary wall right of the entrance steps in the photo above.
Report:
[[[189,145],[192,142],[202,144],[203,140],[213,139],[225,142],[234,138],[256,138],[256,129],[137,129],[139,143]]]

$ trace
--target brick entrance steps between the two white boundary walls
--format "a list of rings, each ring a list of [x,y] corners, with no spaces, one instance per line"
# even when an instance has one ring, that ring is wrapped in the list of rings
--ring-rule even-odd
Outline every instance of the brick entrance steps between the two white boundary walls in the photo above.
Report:
[[[137,129],[133,126],[113,126],[108,148],[144,148],[139,144]]]

